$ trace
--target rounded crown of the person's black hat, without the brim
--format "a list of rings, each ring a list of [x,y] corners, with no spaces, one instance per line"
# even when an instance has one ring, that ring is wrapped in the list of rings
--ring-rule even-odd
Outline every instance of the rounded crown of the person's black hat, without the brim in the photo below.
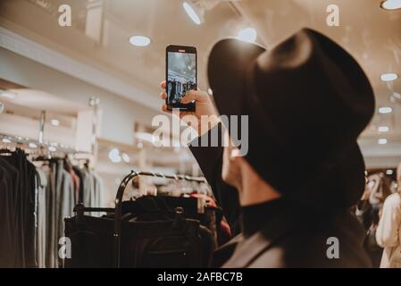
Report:
[[[264,52],[250,72],[257,120],[294,156],[334,164],[372,119],[374,96],[362,68],[311,29]]]

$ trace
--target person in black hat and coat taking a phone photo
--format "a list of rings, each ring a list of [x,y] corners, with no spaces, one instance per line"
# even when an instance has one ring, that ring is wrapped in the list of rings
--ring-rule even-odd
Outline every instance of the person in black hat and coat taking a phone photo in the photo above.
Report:
[[[356,139],[375,108],[355,59],[313,29],[272,50],[223,39],[209,55],[208,78],[219,113],[247,115],[249,122],[246,156],[236,156],[232,145],[190,147],[240,233],[217,251],[214,265],[371,266],[363,228],[348,211],[364,189]],[[182,103],[192,100],[194,115],[216,117],[205,92],[190,91]]]

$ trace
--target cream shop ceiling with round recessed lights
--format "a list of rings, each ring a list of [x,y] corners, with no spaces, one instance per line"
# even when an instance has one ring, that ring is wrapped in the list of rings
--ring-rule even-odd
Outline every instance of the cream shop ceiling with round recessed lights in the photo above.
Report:
[[[297,29],[311,27],[335,39],[354,55],[372,81],[378,107],[393,109],[391,114],[376,114],[372,126],[363,134],[364,142],[375,145],[385,136],[401,144],[401,104],[389,100],[393,91],[401,93],[401,79],[390,84],[380,81],[383,72],[397,72],[401,76],[401,10],[384,11],[380,2],[221,1],[206,11],[201,25],[196,25],[182,8],[182,0],[2,0],[0,25],[135,85],[146,92],[146,101],[154,101],[155,105],[160,101],[158,83],[164,78],[165,46],[197,47],[199,82],[205,89],[207,53],[219,38],[236,36],[239,29],[252,26],[258,32],[256,41],[272,47]],[[60,4],[71,4],[73,27],[58,26]],[[326,24],[329,4],[338,4],[339,27]],[[99,5],[103,14],[97,22],[96,15],[93,16],[88,32],[88,7],[96,9]],[[97,29],[103,29],[98,38],[93,37]],[[130,46],[132,35],[146,35],[152,43],[146,47]],[[389,127],[388,133],[378,132],[382,125]]]

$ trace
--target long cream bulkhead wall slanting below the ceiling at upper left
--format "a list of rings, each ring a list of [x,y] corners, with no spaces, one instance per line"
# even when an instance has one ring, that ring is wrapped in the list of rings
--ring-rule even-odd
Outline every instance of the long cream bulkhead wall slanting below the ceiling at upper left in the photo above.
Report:
[[[152,117],[157,113],[146,106],[72,78],[2,47],[0,47],[0,78],[84,105],[88,105],[90,97],[99,97],[102,111],[100,130],[102,139],[132,144],[134,122],[150,125]]]

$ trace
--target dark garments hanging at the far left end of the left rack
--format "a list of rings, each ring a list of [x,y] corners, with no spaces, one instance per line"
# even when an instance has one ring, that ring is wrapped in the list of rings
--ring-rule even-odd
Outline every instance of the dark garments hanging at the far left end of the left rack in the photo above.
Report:
[[[4,210],[0,224],[0,241],[5,248],[0,252],[4,267],[36,267],[35,242],[35,167],[17,149],[1,156],[0,164],[4,189],[1,205]],[[10,242],[10,238],[13,238]]]

